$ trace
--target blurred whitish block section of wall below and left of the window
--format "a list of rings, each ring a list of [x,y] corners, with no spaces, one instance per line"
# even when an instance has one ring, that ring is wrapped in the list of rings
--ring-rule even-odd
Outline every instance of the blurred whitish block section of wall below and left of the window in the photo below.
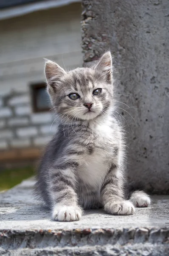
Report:
[[[1,101],[0,150],[44,145],[54,134],[54,113],[33,113],[29,95],[11,93]]]

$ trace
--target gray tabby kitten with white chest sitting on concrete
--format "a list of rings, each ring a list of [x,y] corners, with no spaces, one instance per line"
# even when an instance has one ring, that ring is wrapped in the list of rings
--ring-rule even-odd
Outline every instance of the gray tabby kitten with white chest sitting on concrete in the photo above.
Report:
[[[104,207],[114,215],[133,214],[134,205],[147,207],[145,192],[124,192],[124,139],[111,114],[110,52],[94,67],[68,72],[47,60],[45,75],[59,125],[42,157],[36,187],[52,218],[78,221],[82,207]]]

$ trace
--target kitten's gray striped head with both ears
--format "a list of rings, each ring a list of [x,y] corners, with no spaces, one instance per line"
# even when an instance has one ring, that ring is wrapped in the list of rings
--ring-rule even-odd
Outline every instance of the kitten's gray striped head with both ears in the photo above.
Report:
[[[68,72],[47,60],[45,75],[52,105],[56,113],[64,115],[62,119],[90,120],[110,112],[113,105],[110,52],[106,52],[96,66]]]

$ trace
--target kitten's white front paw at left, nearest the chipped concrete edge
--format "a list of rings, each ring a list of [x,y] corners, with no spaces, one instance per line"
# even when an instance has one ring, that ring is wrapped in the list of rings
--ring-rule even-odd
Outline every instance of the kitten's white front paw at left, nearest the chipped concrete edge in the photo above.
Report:
[[[81,216],[82,210],[72,206],[55,207],[52,214],[54,221],[79,221]]]

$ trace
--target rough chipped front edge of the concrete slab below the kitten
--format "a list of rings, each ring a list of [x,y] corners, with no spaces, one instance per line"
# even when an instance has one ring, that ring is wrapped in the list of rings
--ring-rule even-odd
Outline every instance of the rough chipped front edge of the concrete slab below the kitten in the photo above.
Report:
[[[134,244],[169,245],[169,227],[73,230],[0,230],[0,248],[40,248],[57,246],[103,246]]]

